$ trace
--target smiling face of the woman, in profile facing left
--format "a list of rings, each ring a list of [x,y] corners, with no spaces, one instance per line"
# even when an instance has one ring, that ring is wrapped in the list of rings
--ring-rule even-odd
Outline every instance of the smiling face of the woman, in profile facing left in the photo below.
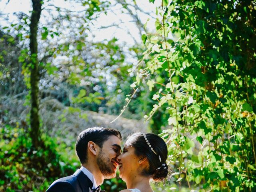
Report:
[[[126,142],[122,154],[117,158],[119,163],[119,176],[124,181],[126,178],[130,178],[139,173],[139,158],[136,156],[134,150],[134,147],[127,145]]]

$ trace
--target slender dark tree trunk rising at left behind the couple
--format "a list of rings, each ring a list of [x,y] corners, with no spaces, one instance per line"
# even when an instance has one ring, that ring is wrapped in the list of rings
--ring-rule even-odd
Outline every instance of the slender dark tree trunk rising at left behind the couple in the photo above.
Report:
[[[30,137],[34,147],[40,146],[40,123],[39,123],[39,106],[38,106],[38,49],[37,49],[37,31],[38,22],[42,11],[42,0],[32,0],[33,11],[30,18],[30,85],[31,85],[31,110],[30,110]]]

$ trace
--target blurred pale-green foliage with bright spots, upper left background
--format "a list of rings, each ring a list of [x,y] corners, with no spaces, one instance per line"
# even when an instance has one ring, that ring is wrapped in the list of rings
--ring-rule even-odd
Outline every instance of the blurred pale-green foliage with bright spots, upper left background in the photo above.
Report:
[[[130,92],[129,85],[132,76],[127,76],[127,71],[132,68],[132,62],[142,53],[138,45],[127,49],[125,44],[118,44],[116,38],[102,42],[89,40],[88,36],[92,35],[90,26],[101,12],[109,11],[109,2],[95,2],[92,4],[84,2],[83,6],[86,11],[72,11],[72,8],[69,10],[55,6],[48,1],[44,2],[42,15],[49,18],[48,21],[41,21],[38,28],[39,96],[42,98],[55,97],[66,106],[117,114],[122,109],[124,93]],[[66,3],[81,8],[80,1],[70,0]],[[123,2],[118,1],[117,4],[119,3],[124,6]],[[130,8],[137,6],[136,3],[135,5],[133,2],[131,3]],[[113,4],[113,6],[117,4]],[[128,2],[125,4],[127,6]],[[127,8],[126,6],[123,7],[124,10]],[[130,11],[128,13],[137,19],[136,23],[140,23],[139,26],[142,25],[135,13]],[[8,93],[8,89],[14,89],[15,91],[10,91],[10,94],[16,97],[18,94],[18,96],[28,94],[24,90],[31,87],[28,49],[30,18],[24,13],[16,13],[15,16],[18,21],[10,23],[10,26],[3,26],[1,30],[8,34],[10,39],[17,40],[20,54],[16,55],[18,61],[16,58],[14,62],[17,68],[12,66],[8,68],[8,64],[2,63],[4,69],[2,78],[6,80],[7,74],[8,81],[11,81],[12,84],[8,86],[3,81],[1,88],[4,90],[1,94]],[[140,30],[143,29],[140,28]],[[3,55],[3,57],[5,56]],[[15,59],[12,52],[8,56],[10,56],[10,60]],[[9,74],[18,74],[20,78],[17,81]],[[23,80],[27,87],[24,86]],[[15,89],[16,87],[18,89]],[[82,89],[86,90],[86,99],[72,100]],[[30,97],[27,96],[27,99],[29,100]],[[80,102],[76,102],[78,100]],[[141,118],[141,115],[136,115],[142,111],[136,107],[137,105],[138,103],[130,105],[129,112],[124,115]]]

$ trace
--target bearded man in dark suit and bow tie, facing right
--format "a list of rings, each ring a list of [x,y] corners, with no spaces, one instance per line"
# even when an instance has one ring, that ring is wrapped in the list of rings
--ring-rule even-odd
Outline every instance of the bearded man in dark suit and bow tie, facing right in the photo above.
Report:
[[[82,164],[76,172],[54,181],[46,192],[99,192],[104,179],[114,178],[121,152],[118,130],[88,128],[76,140],[76,154]]]

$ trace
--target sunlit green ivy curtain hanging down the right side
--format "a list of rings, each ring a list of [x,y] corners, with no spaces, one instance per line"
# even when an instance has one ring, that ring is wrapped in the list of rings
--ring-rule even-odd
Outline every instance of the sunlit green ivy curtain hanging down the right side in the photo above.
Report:
[[[146,120],[165,115],[172,191],[255,191],[256,2],[163,0],[157,13],[132,87],[153,92]]]

